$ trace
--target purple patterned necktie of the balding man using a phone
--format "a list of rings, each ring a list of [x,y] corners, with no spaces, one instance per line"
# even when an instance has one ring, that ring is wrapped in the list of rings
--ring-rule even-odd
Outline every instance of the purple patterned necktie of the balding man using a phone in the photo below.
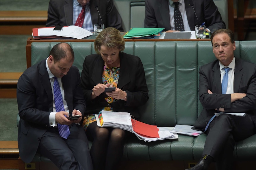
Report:
[[[53,78],[54,78],[53,93],[54,93],[54,103],[55,103],[56,112],[65,111],[58,79],[57,77],[53,77]],[[69,127],[66,124],[58,123],[58,130],[59,130],[60,136],[65,139],[67,139],[67,137],[70,135]]]

